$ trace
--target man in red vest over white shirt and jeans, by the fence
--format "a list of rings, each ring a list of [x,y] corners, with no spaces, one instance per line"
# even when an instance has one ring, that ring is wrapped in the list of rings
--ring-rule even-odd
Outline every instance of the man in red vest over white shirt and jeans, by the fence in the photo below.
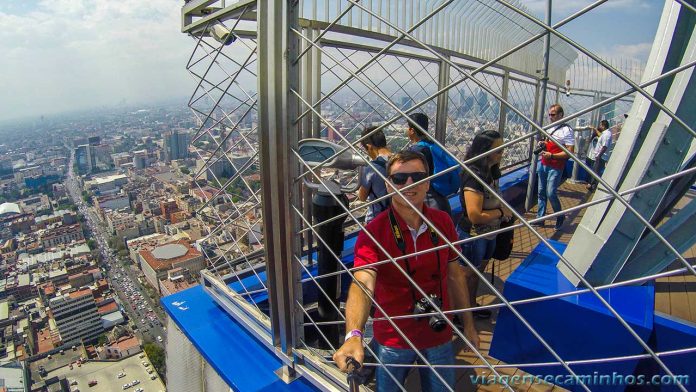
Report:
[[[551,105],[549,108],[549,120],[551,122],[559,121],[563,118],[563,108],[559,104]],[[555,128],[549,130],[551,137],[545,141],[540,141],[538,147],[541,151],[541,165],[537,170],[539,188],[538,188],[538,207],[537,217],[541,218],[546,215],[546,201],[548,200],[553,207],[553,212],[561,211],[561,200],[558,198],[558,187],[561,185],[563,170],[568,158],[568,154],[560,147],[562,144],[565,148],[573,152],[575,149],[575,132],[568,124],[559,124]],[[556,230],[563,226],[565,221],[564,215],[559,215],[556,218]],[[538,221],[533,226],[542,226],[544,223]]]

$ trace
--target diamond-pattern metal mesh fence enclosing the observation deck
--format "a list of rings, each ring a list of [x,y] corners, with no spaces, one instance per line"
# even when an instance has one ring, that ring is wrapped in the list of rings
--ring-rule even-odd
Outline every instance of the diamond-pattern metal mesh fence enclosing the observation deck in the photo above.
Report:
[[[237,31],[235,21],[253,18],[246,11],[255,10],[259,19],[265,18],[265,23],[277,23],[276,28],[286,29],[287,42],[282,45],[272,42],[269,36],[275,30],[263,28],[260,21],[258,38],[251,29],[256,26],[244,22],[246,30],[239,28],[236,39],[225,42],[228,45],[215,44],[207,36],[212,34],[208,25],[193,34],[196,51],[189,62],[189,71],[200,83],[190,106],[200,127],[192,145],[202,165],[192,192],[202,195],[198,214],[210,227],[201,243],[209,262],[207,278],[223,282],[230,288],[232,297],[241,296],[249,305],[243,309],[251,309],[257,316],[270,316],[272,322],[284,317],[290,321],[291,326],[273,324],[267,331],[269,338],[262,340],[276,349],[283,346],[283,354],[279,355],[286,355],[286,359],[290,358],[289,351],[301,357],[295,371],[319,380],[317,384],[325,382],[345,388],[337,366],[344,367],[346,358],[353,357],[364,368],[376,369],[376,378],[366,384],[377,390],[387,385],[396,390],[418,390],[418,385],[423,385],[419,382],[431,382],[436,390],[465,390],[475,386],[471,377],[465,376],[477,375],[497,377],[495,383],[501,389],[519,389],[501,376],[511,369],[520,369],[520,374],[547,372],[577,381],[593,366],[617,364],[617,368],[629,369],[630,364],[622,366],[639,360],[649,361],[658,375],[679,374],[677,371],[683,369],[680,360],[685,357],[677,356],[676,361],[665,357],[674,354],[672,350],[689,354],[696,348],[690,343],[671,349],[654,345],[648,339],[649,334],[645,334],[647,327],[637,324],[632,318],[635,314],[627,312],[624,303],[608,298],[606,293],[612,289],[628,295],[621,291],[629,289],[625,286],[694,273],[690,265],[693,261],[685,256],[693,244],[679,237],[683,229],[679,222],[691,217],[691,209],[685,206],[688,204],[679,204],[676,210],[678,203],[672,208],[665,206],[660,213],[636,205],[632,197],[636,193],[645,195],[641,193],[644,189],[657,184],[670,183],[672,187],[663,193],[683,202],[689,187],[674,185],[676,182],[672,180],[693,179],[688,152],[680,150],[675,158],[679,162],[663,168],[664,174],[659,178],[646,177],[641,181],[632,174],[640,168],[627,165],[627,159],[621,163],[618,163],[620,158],[610,161],[601,177],[595,173],[596,167],[585,163],[587,144],[560,147],[555,153],[572,158],[576,172],[585,172],[586,181],[598,180],[600,190],[593,196],[576,193],[571,197],[576,200],[564,201],[560,210],[545,216],[537,217],[535,210],[522,208],[525,196],[534,198],[533,194],[525,195],[522,185],[536,178],[537,166],[529,167],[537,159],[531,151],[532,141],[548,136],[553,130],[549,122],[540,120],[546,118],[552,104],[563,106],[567,117],[563,121],[575,128],[609,120],[616,143],[613,156],[625,157],[636,140],[643,147],[651,145],[642,143],[644,140],[672,140],[670,137],[681,138],[686,145],[692,142],[694,133],[689,127],[693,122],[680,109],[678,99],[667,101],[663,94],[658,101],[646,95],[646,91],[632,95],[630,90],[623,94],[621,88],[605,90],[616,83],[600,83],[601,88],[592,90],[588,87],[592,86],[592,79],[588,77],[582,79],[583,90],[549,85],[545,107],[539,107],[542,87],[534,76],[496,64],[484,65],[486,58],[476,62],[466,53],[444,51],[445,46],[433,44],[430,36],[437,36],[433,21],[445,17],[445,3],[418,8],[406,19],[391,14],[405,11],[389,8],[390,2],[337,2],[335,7],[327,2],[323,10],[316,4],[300,2],[297,9],[291,5],[290,10],[283,10],[295,17],[287,17],[273,5],[255,8],[254,3],[248,4],[250,8],[242,12],[241,6],[223,9],[220,17],[226,18],[225,24],[232,35]],[[523,10],[506,7],[510,13],[524,15]],[[353,11],[346,11],[350,8]],[[298,14],[322,23],[312,26],[307,19],[298,19]],[[236,15],[236,19],[231,15]],[[425,21],[428,23],[419,24]],[[346,30],[346,26],[353,29]],[[414,34],[407,32],[411,28]],[[462,34],[475,33],[462,30]],[[278,71],[281,76],[263,73],[268,68],[260,71],[268,64],[258,64],[259,50],[283,54],[286,64],[276,65],[285,67],[285,71]],[[577,80],[581,79],[577,76],[580,68],[573,70]],[[613,75],[616,69],[604,72]],[[664,73],[652,77],[664,77]],[[287,105],[287,111],[281,110],[282,104],[271,105],[270,109],[259,107],[259,94],[270,91],[264,87],[263,78],[282,83],[285,93],[282,102]],[[626,89],[637,90],[634,81],[623,82]],[[687,90],[679,96],[688,98],[689,94]],[[644,105],[643,112],[640,105]],[[645,105],[652,105],[652,114],[647,114]],[[658,131],[644,127],[639,120],[630,122],[632,117],[655,117],[657,112],[666,116],[662,120],[676,124],[672,125],[676,129],[669,128],[661,136],[654,136]],[[429,124],[408,125],[408,116],[413,113],[423,113]],[[624,117],[627,113],[629,120]],[[264,117],[277,119],[283,129],[257,125]],[[556,119],[553,124],[560,123]],[[376,128],[361,136],[368,126]],[[470,153],[474,138],[482,137],[482,131],[500,131],[501,138],[489,136],[491,140],[485,147],[476,154]],[[578,138],[587,138],[590,131],[585,132]],[[455,164],[444,170],[431,165],[437,170],[427,173],[427,165],[418,157],[411,159],[403,155],[389,164],[378,163],[377,157],[388,153],[375,142],[374,137],[382,133],[391,153],[413,149],[418,142],[413,135],[421,133],[432,146],[428,147],[432,159]],[[620,139],[619,133],[623,135]],[[269,134],[281,135],[289,141],[288,145],[274,147],[287,154],[286,161],[261,156],[260,143],[273,140]],[[306,137],[321,141],[299,142]],[[438,158],[440,151],[448,158]],[[652,154],[663,154],[656,151],[657,148]],[[278,166],[286,165],[287,178],[268,178],[269,174],[261,170],[259,162],[274,161]],[[504,169],[501,179],[490,175],[495,164]],[[443,193],[439,189],[446,189],[445,180],[452,173],[457,173],[453,177],[463,178],[465,183],[456,192]],[[575,175],[573,179],[583,181]],[[262,202],[271,200],[262,197],[268,196],[263,195],[268,189],[262,184],[276,183],[284,184],[291,196],[290,200],[277,202],[288,208],[288,221],[278,216],[266,219],[262,216],[274,214],[279,207],[271,201]],[[584,183],[582,187],[584,190]],[[534,187],[529,189],[535,191]],[[447,206],[451,212],[422,208],[423,199],[437,199],[433,194],[449,199]],[[651,197],[660,202],[660,197]],[[462,200],[465,206],[461,205]],[[387,208],[385,204],[389,201]],[[621,215],[606,209],[608,201],[614,207],[621,207]],[[373,211],[370,222],[365,217],[368,210]],[[386,212],[378,214],[380,211]],[[671,226],[661,221],[667,228],[658,231],[656,218],[669,220],[665,211],[681,220],[673,220]],[[565,237],[568,251],[564,251],[565,245],[554,241],[562,237],[562,231],[550,232],[536,226],[544,220],[559,222],[556,218],[572,214],[578,218],[568,223]],[[502,226],[503,216],[514,217],[516,223]],[[630,224],[641,227],[634,234],[637,238],[633,244],[642,244],[639,249],[643,254],[652,254],[655,249],[664,253],[666,249],[672,260],[678,259],[680,268],[665,272],[665,266],[648,273],[645,263],[634,254],[625,258],[633,266],[631,271],[637,272],[619,275],[612,268],[621,267],[597,262],[600,255],[609,254],[607,249],[612,244],[635,248],[625,240],[612,242],[613,238],[607,234]],[[299,231],[288,233],[296,227]],[[273,237],[280,238],[280,242],[266,237],[271,231],[280,233]],[[515,241],[526,238],[529,242],[526,247],[516,248],[526,252],[525,257],[533,256],[525,261],[527,273],[535,266],[535,257],[547,257],[554,263],[553,271],[561,271],[553,278],[568,283],[555,287],[557,292],[530,289],[521,295],[514,291],[515,287],[519,290],[524,287],[524,279],[534,278],[523,275],[525,268],[497,277],[490,266],[486,269],[485,261],[491,258],[486,252],[492,250],[486,247],[495,247],[493,239],[502,238],[500,234],[510,231],[514,231]],[[649,237],[651,242],[641,243],[641,237]],[[583,246],[594,257],[595,264],[589,264],[600,266],[607,275],[616,273],[614,278],[602,282],[593,277],[592,265],[578,261]],[[278,248],[292,256],[278,260],[274,253]],[[616,256],[617,260],[619,256],[624,257]],[[537,272],[544,271],[552,270],[542,268]],[[491,275],[493,281],[489,281]],[[541,275],[536,278],[543,280]],[[507,280],[505,291],[503,282],[496,283],[495,279]],[[283,291],[288,287],[294,289]],[[652,286],[643,287],[641,290],[648,292],[649,297]],[[283,297],[288,292],[291,297]],[[489,296],[484,304],[477,303],[480,292]],[[570,306],[568,303],[575,303],[581,309],[566,307]],[[583,307],[586,303],[591,306]],[[577,313],[572,312],[589,312],[588,308],[611,319],[611,328],[604,331],[608,336],[605,340],[628,342],[625,350],[617,346],[614,351],[583,351],[578,345],[564,344],[568,341],[549,332],[575,320]],[[545,314],[549,309],[567,313]],[[475,315],[490,317],[491,311],[497,320],[495,326],[474,322]],[[652,311],[648,312],[651,318]],[[486,330],[492,328],[495,328],[493,333]],[[354,334],[363,336],[358,340],[354,340],[357,336],[349,336],[344,343],[344,333],[351,330],[359,330]],[[491,335],[494,342],[485,341]],[[512,336],[521,336],[520,341],[529,347],[517,347],[517,352],[515,348],[502,349],[501,345],[512,344],[506,340]],[[588,333],[585,338],[593,336]],[[571,385],[558,382],[557,378],[552,380]],[[528,381],[527,387],[538,380]],[[594,389],[590,383],[573,384],[573,387]],[[682,385],[677,387],[685,390]]]

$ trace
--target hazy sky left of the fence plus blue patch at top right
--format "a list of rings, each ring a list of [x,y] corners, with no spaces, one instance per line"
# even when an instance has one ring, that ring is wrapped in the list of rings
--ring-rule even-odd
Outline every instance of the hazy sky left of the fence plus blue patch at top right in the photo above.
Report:
[[[543,15],[546,0],[523,0]],[[179,0],[0,0],[0,121],[188,97],[194,41]],[[231,3],[231,1],[228,1]],[[556,0],[554,19],[590,4]],[[563,32],[604,55],[647,58],[657,0],[612,0]]]

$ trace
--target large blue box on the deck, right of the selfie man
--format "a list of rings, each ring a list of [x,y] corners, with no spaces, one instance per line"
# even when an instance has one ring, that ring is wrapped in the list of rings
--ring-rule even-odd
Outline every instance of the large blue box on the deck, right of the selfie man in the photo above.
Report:
[[[557,241],[550,243],[560,253],[566,248],[565,244]],[[508,278],[503,294],[514,301],[575,291],[571,282],[556,268],[557,262],[558,258],[545,245],[539,244]],[[600,294],[647,341],[653,323],[653,287],[619,287]],[[643,353],[643,348],[592,293],[518,305],[517,309],[564,360]],[[501,309],[498,315],[490,355],[508,363],[554,361],[507,308]],[[632,360],[571,368],[578,375],[593,375],[594,372],[630,375],[637,363],[637,360]],[[559,376],[560,381],[568,374],[561,366],[522,369],[533,375]],[[562,386],[579,389],[573,385]],[[591,387],[593,391],[603,388],[612,390],[597,385]]]

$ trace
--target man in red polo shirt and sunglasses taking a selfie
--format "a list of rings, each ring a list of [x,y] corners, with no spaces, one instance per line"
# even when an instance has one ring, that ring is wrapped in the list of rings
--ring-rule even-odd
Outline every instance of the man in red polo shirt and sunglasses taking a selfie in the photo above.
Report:
[[[435,246],[441,246],[445,244],[445,241],[439,238],[404,198],[420,209],[427,220],[450,242],[457,241],[457,233],[450,216],[445,212],[428,208],[423,203],[430,186],[429,181],[423,181],[419,185],[402,190],[406,186],[427,178],[428,167],[425,158],[422,154],[411,151],[395,154],[387,163],[387,175],[389,178],[387,190],[391,192],[392,186],[395,186],[401,190],[403,197],[394,195],[391,207],[366,226],[366,230],[374,237],[374,241],[365,232],[358,235],[354,248],[355,267],[364,268],[354,274],[346,303],[348,333],[345,343],[334,354],[336,364],[343,371],[348,370],[346,363],[348,358],[353,358],[362,364],[364,359],[362,333],[372,306],[370,297],[365,291],[369,292],[374,296],[375,303],[386,313],[376,309],[374,318],[377,320],[373,324],[374,338],[378,343],[377,357],[387,365],[386,369],[382,366],[377,368],[378,391],[400,389],[400,385],[403,385],[408,375],[408,367],[388,365],[423,363],[414,348],[431,365],[454,364],[452,329],[441,319],[441,316],[437,323],[439,326],[435,326],[436,328],[430,316],[399,318],[391,321],[385,319],[385,317],[413,315],[417,308],[416,302],[422,303],[426,308],[431,306],[427,300],[423,300],[424,296],[413,287],[406,276],[418,284],[420,289],[433,299],[433,302],[441,300],[440,309],[442,310],[451,309],[451,300],[455,302],[455,308],[470,307],[466,278],[463,268],[456,262],[456,253],[449,247],[420,253]],[[398,267],[382,252],[380,246],[386,250],[389,257],[400,258]],[[419,253],[407,258],[402,257],[416,252]],[[434,311],[426,310],[428,313]],[[471,313],[464,312],[460,317],[464,319],[465,336],[478,347],[478,334]],[[454,386],[453,368],[436,367],[435,370],[439,377],[427,367],[420,368],[422,390],[444,390],[442,380],[450,388]]]

